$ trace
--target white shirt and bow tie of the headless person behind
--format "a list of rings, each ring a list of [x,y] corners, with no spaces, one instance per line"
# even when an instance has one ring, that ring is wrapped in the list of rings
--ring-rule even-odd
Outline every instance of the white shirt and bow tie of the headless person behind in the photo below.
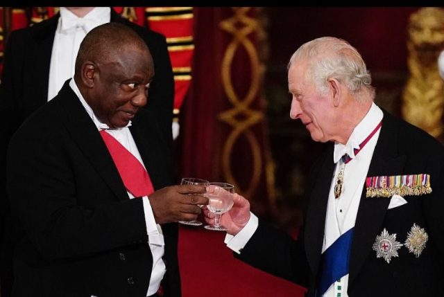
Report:
[[[93,8],[84,17],[77,17],[67,8],[60,7],[49,66],[48,101],[54,98],[65,81],[74,75],[78,48],[85,35],[110,20],[109,7]]]

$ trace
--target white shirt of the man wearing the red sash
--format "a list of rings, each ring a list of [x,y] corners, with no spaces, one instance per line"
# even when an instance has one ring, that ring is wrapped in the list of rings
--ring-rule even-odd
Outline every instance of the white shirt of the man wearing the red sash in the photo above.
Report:
[[[101,123],[101,121],[98,118],[96,118],[94,111],[92,111],[91,107],[89,107],[89,105],[85,101],[85,98],[83,98],[82,94],[80,93],[76,85],[76,82],[74,82],[74,79],[71,79],[71,81],[69,82],[69,87],[71,87],[74,93],[76,93],[83,107],[85,107],[87,114],[89,114],[92,121],[96,125],[97,129],[98,130],[105,129],[107,133],[116,138],[117,141],[119,141],[119,143],[123,145],[123,147],[125,147],[131,154],[133,154],[136,157],[136,159],[139,160],[139,162],[142,163],[142,165],[145,168],[144,162],[142,161],[142,157],[140,156],[139,150],[137,150],[137,146],[134,142],[133,135],[131,135],[129,129],[129,127],[131,126],[131,121],[128,123],[128,125],[126,125],[126,127],[110,129],[108,125],[106,125],[105,123]],[[134,198],[134,196],[131,195],[130,192],[128,192],[128,197],[130,197],[130,199]],[[160,282],[164,277],[165,272],[167,271],[165,263],[162,260],[162,256],[164,255],[165,244],[164,244],[162,228],[160,227],[160,224],[157,224],[155,222],[153,209],[151,208],[151,204],[148,197],[146,196],[142,197],[142,202],[144,205],[146,233],[148,234],[148,245],[151,249],[151,253],[153,254],[153,267],[151,271],[151,279],[148,287],[148,292],[146,293],[146,296],[151,296],[155,294],[159,289]]]

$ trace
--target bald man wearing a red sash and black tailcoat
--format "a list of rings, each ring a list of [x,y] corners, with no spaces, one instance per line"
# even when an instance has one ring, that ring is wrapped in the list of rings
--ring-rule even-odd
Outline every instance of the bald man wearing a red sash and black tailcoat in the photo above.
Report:
[[[187,195],[204,187],[170,186],[171,135],[142,108],[150,51],[127,26],[103,24],[75,69],[8,147],[22,231],[12,296],[180,296],[176,222],[196,219],[207,199]]]

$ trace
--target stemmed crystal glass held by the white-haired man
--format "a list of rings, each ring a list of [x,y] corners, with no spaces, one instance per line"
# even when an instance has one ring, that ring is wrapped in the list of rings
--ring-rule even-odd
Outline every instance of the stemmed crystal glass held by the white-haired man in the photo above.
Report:
[[[234,186],[230,183],[219,182],[210,183],[209,186],[214,186],[214,191],[205,193],[205,197],[208,198],[208,210],[214,213],[214,225],[206,225],[204,228],[214,231],[226,231],[221,226],[221,215],[233,206]]]

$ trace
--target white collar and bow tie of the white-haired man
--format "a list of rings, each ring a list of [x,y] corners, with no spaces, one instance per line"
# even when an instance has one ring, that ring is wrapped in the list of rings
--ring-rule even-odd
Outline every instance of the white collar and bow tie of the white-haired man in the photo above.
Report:
[[[384,114],[382,113],[382,110],[375,105],[375,102],[372,102],[370,110],[355,129],[353,129],[347,143],[345,145],[337,142],[334,143],[334,163],[337,163],[344,154],[348,154],[351,159],[355,158],[355,149],[359,149],[359,144],[370,135],[373,129],[375,129],[377,124],[382,120],[383,116]]]

